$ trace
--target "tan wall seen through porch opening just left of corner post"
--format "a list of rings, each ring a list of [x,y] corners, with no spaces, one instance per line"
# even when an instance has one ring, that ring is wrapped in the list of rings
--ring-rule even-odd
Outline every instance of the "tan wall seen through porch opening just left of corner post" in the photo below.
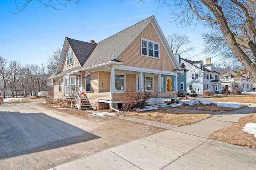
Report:
[[[110,92],[110,72],[99,72],[99,91]]]

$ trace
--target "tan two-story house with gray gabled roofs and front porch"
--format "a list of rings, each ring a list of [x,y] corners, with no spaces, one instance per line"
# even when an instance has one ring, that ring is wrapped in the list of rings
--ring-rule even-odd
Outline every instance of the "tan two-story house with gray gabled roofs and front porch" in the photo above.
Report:
[[[78,109],[103,109],[122,103],[127,89],[150,92],[151,98],[176,96],[182,72],[151,16],[99,43],[66,37],[57,70],[49,79],[54,99],[74,100]],[[173,76],[172,91],[162,91],[164,76]]]

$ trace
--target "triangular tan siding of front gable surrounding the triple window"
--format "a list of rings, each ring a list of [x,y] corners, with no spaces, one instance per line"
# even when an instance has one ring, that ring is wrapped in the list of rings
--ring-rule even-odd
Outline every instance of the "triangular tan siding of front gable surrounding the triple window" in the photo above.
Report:
[[[149,39],[160,43],[160,59],[141,56],[141,39]],[[160,42],[156,31],[150,23],[134,41],[122,52],[117,60],[124,62],[126,66],[135,66],[140,68],[150,68],[155,70],[173,71],[174,66],[168,57],[164,46]]]

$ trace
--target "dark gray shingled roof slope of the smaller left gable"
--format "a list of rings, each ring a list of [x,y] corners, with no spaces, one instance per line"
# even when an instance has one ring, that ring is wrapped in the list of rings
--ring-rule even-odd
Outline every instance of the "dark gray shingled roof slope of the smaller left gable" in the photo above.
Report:
[[[97,44],[86,43],[84,41],[79,41],[79,40],[71,39],[68,37],[66,37],[66,39],[68,40],[70,47],[74,51],[80,65],[83,66],[84,63],[92,54],[92,51],[94,51]]]

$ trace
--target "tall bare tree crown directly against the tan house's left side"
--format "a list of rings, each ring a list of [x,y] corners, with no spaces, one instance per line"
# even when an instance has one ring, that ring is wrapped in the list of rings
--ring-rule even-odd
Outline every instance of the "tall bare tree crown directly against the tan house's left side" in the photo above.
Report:
[[[60,55],[61,55],[60,48],[53,51],[52,56],[48,55],[48,61],[47,61],[46,68],[50,75],[52,75],[57,70],[57,66],[60,61]]]

